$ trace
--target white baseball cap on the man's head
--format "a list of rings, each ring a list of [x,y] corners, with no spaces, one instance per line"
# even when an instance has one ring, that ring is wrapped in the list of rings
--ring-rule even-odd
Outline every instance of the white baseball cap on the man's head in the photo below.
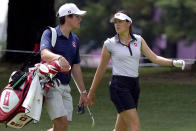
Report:
[[[66,3],[59,8],[58,17],[71,14],[85,15],[86,11],[80,10],[74,3]]]

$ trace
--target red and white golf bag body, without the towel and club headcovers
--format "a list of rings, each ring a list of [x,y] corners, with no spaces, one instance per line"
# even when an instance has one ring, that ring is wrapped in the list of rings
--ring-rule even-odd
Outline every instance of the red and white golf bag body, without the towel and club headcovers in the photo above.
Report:
[[[14,72],[9,84],[1,92],[0,122],[6,126],[22,128],[32,120],[25,115],[25,108],[21,106],[30,87],[32,73]]]

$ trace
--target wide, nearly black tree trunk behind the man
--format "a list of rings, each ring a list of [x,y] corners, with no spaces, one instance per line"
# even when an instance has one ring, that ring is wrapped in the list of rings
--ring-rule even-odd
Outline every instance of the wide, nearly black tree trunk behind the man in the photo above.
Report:
[[[9,0],[7,49],[33,51],[43,30],[55,25],[54,0]],[[29,53],[7,52],[9,62],[23,62]]]

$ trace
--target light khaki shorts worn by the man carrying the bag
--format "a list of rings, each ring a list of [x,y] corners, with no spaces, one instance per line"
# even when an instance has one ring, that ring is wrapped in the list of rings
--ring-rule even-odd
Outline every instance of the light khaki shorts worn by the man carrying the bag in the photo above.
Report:
[[[45,106],[51,120],[66,116],[72,120],[73,102],[69,85],[50,88],[45,96]]]

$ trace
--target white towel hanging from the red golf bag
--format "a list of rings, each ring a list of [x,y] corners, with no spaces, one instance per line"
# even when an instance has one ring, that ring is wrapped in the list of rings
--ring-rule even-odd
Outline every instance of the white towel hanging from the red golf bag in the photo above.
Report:
[[[29,91],[22,106],[25,108],[26,115],[38,122],[41,116],[42,104],[42,88],[39,82],[39,77],[36,74],[32,80]]]

